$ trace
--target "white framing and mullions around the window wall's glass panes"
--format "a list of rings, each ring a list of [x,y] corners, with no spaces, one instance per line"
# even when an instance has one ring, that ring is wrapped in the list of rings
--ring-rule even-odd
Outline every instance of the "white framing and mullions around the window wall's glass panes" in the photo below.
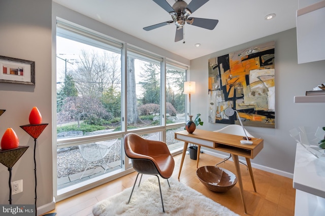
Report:
[[[58,30],[61,28],[62,30]],[[128,173],[133,172],[132,164],[129,163],[129,159],[125,156],[124,153],[124,140],[123,137],[125,134],[129,132],[135,132],[137,134],[146,134],[146,133],[153,133],[153,132],[159,132],[159,139],[162,141],[166,141],[166,130],[175,128],[175,127],[181,127],[184,125],[184,122],[182,123],[176,123],[176,124],[169,124],[166,125],[166,68],[167,64],[174,65],[180,68],[185,68],[185,79],[187,77],[187,70],[188,67],[183,66],[182,64],[178,64],[177,62],[168,61],[166,57],[160,57],[158,55],[151,54],[146,51],[142,51],[140,49],[137,49],[136,47],[132,45],[128,45],[127,43],[120,43],[117,41],[112,40],[111,38],[106,37],[106,35],[103,35],[99,32],[94,32],[91,29],[84,28],[82,26],[79,26],[77,24],[73,24],[69,21],[64,21],[62,19],[57,18],[57,25],[55,27],[56,29],[56,35],[59,34],[60,37],[64,34],[64,37],[68,37],[70,40],[76,40],[81,43],[85,43],[85,40],[80,39],[79,37],[71,37],[69,38],[69,34],[80,34],[84,33],[83,37],[90,38],[91,40],[96,40],[99,43],[102,43],[100,46],[95,46],[99,48],[105,48],[110,51],[117,51],[120,50],[121,54],[121,131],[117,131],[110,134],[97,134],[97,135],[89,135],[89,136],[82,136],[82,137],[73,137],[73,138],[56,138],[56,88],[53,89],[55,93],[53,92],[53,194],[56,198],[56,201],[60,201],[62,199],[66,199],[68,197],[71,197],[75,194],[81,193],[83,191],[89,190],[90,188],[102,185],[106,182],[112,181],[113,179],[116,179],[118,177],[121,177],[123,175],[126,175]],[[70,33],[69,33],[70,32]],[[54,39],[54,42],[56,43],[56,40]],[[86,44],[88,44],[86,42]],[[94,44],[88,44],[93,46]],[[56,53],[56,46],[54,46],[55,53]],[[143,58],[153,58],[154,60],[160,60],[160,126],[155,127],[148,127],[148,128],[139,128],[139,129],[132,129],[128,130],[126,125],[126,56],[128,52],[135,52],[137,55],[143,55]],[[140,55],[140,56],[141,56]],[[56,65],[56,58],[53,58],[53,64]],[[55,68],[55,67],[54,67]],[[56,82],[56,70],[53,70],[53,82]],[[54,85],[55,86],[55,85]],[[185,97],[186,98],[186,97]],[[185,102],[185,113],[186,113],[186,102]],[[90,141],[101,141],[106,139],[113,139],[113,138],[120,138],[121,139],[121,160],[122,160],[122,168],[120,170],[113,171],[112,173],[105,173],[99,177],[95,177],[93,179],[90,179],[88,181],[75,184],[74,186],[62,189],[60,191],[57,191],[57,183],[56,183],[56,171],[57,171],[57,161],[56,161],[56,149],[57,148],[66,148],[71,146],[77,146],[83,143],[88,143]],[[175,152],[173,154],[178,154],[181,151]]]

